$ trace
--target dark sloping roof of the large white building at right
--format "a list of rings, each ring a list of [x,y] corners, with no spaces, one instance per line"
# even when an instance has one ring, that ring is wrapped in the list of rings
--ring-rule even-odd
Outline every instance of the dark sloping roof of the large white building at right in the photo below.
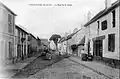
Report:
[[[112,11],[114,8],[120,6],[120,1],[117,0],[116,2],[114,2],[109,8],[106,8],[102,11],[100,11],[99,13],[97,13],[89,22],[87,22],[84,26],[88,26],[89,24],[95,22],[96,20],[98,20],[99,18],[105,16],[106,14],[108,14],[110,11]]]

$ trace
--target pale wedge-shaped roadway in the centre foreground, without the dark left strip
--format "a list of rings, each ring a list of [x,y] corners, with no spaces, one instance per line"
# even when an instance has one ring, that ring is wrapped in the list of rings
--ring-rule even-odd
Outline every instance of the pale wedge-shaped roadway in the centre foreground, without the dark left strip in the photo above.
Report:
[[[69,59],[31,75],[28,79],[109,79]]]

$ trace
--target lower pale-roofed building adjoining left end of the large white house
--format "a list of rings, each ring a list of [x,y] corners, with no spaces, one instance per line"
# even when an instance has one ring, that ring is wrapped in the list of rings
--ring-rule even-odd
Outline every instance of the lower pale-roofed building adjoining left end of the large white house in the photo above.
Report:
[[[76,55],[80,55],[80,51],[83,48],[82,46],[85,44],[85,28],[77,29],[72,34],[67,36],[67,50],[70,53],[74,53]],[[72,50],[71,46],[76,45],[78,48],[76,50]]]

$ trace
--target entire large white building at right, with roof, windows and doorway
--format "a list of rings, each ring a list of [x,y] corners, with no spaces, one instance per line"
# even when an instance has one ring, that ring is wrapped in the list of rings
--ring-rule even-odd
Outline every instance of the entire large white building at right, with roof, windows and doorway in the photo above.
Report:
[[[94,16],[86,27],[86,44],[94,57],[110,62],[120,61],[120,2]]]

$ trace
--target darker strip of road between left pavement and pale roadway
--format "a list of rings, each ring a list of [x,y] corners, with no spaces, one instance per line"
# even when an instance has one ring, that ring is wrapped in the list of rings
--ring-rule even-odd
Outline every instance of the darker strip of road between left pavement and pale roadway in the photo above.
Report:
[[[58,61],[60,61],[62,57],[56,56],[52,60],[43,60],[41,57],[38,57],[18,73],[16,73],[12,78],[27,78],[30,75],[34,75],[38,71],[50,66]]]

